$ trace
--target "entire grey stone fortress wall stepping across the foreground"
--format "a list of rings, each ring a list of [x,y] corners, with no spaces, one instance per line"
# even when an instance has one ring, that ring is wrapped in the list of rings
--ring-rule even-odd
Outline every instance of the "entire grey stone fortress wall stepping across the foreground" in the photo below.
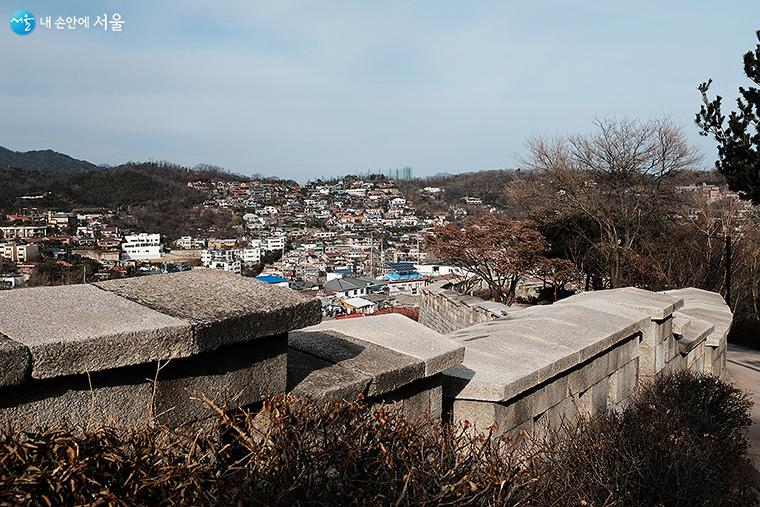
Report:
[[[0,292],[0,424],[179,426],[214,415],[201,398],[255,406],[291,392],[540,435],[625,408],[660,371],[725,371],[732,315],[715,293],[495,305],[431,287],[420,323],[320,323],[317,300],[203,269]]]

